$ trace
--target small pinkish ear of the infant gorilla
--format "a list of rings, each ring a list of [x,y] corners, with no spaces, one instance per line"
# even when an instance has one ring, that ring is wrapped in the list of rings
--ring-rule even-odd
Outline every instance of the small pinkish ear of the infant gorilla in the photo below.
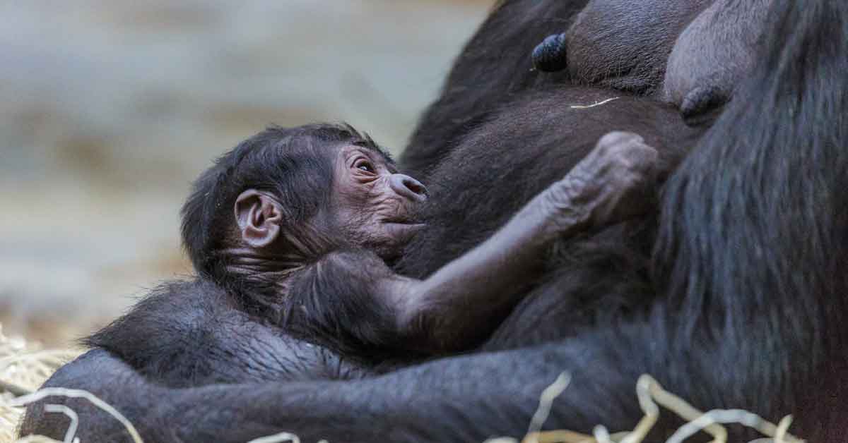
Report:
[[[242,241],[248,246],[270,246],[280,235],[282,205],[265,192],[249,189],[239,194],[235,213]]]

